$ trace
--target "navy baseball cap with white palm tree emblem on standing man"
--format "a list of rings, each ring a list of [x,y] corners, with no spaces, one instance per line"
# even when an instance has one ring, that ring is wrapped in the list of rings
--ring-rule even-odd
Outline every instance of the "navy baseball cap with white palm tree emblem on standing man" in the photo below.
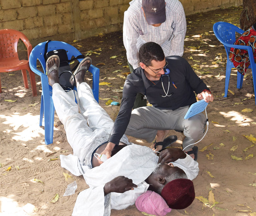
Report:
[[[165,22],[164,0],[142,0],[142,8],[149,25]]]

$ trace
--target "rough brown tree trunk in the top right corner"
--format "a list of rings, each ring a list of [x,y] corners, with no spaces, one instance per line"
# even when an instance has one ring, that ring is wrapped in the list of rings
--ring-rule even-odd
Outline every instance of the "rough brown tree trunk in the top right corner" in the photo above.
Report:
[[[256,23],[256,0],[243,0],[243,10],[239,21],[240,28],[244,31]]]

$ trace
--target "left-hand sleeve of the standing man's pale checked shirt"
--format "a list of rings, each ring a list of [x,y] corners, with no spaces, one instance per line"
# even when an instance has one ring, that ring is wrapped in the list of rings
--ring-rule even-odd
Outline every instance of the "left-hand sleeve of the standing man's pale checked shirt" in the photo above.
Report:
[[[123,27],[123,40],[126,49],[128,62],[132,65],[133,69],[139,67],[139,58],[137,51],[137,39],[139,37],[138,26],[136,20],[129,15],[127,11],[124,14],[124,27]]]

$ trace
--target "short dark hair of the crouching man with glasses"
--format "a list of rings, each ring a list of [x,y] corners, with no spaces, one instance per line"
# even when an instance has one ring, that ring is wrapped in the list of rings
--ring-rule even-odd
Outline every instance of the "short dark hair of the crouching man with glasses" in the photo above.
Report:
[[[151,61],[157,62],[164,60],[164,52],[162,47],[154,42],[143,44],[139,49],[139,60],[146,66],[151,66]]]

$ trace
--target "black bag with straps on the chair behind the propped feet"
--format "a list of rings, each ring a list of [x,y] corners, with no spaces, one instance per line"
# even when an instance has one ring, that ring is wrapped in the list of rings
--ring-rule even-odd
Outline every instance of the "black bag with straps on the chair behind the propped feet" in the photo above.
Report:
[[[68,59],[68,55],[67,55],[67,51],[64,49],[58,49],[58,50],[53,50],[53,51],[49,51],[47,52],[48,49],[48,43],[51,40],[48,40],[45,44],[45,53],[44,53],[44,58],[45,61],[47,61],[47,59],[52,56],[52,55],[57,55],[59,57],[60,60],[60,64],[59,64],[59,84],[63,87],[64,90],[71,90],[74,88],[75,86],[75,82],[73,85],[71,85],[70,83],[70,77],[73,76],[71,71],[76,70],[76,68],[78,67],[79,63],[77,63],[77,65],[71,70],[69,63],[71,61],[74,61],[75,59],[78,58],[84,58],[84,55],[79,55],[76,56],[72,59]],[[74,79],[75,80],[75,79]]]

